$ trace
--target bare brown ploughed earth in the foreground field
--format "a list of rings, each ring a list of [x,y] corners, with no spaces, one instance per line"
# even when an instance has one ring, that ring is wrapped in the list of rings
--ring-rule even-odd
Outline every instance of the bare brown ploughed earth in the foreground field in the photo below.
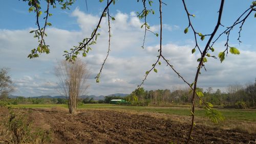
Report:
[[[189,124],[113,110],[15,109],[28,114],[33,127],[50,129],[51,143],[185,143]],[[0,108],[0,116],[7,117]],[[190,143],[248,143],[256,135],[197,125]]]

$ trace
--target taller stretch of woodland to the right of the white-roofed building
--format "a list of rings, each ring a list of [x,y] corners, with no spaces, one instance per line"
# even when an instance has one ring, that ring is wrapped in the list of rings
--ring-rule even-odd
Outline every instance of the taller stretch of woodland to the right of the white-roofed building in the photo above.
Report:
[[[215,106],[224,108],[256,108],[256,79],[254,84],[229,85],[225,92],[220,89],[214,91],[211,87],[203,90],[203,100]],[[172,106],[189,105],[191,103],[191,90],[189,88],[179,88],[170,91],[169,89],[145,90],[144,88],[135,89],[125,97],[126,101],[138,106]],[[201,106],[200,100],[196,99],[197,106]]]

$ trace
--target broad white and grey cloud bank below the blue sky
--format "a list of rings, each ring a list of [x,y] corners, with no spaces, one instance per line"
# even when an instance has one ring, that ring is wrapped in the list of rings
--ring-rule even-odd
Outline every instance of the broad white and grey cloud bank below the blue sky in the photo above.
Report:
[[[37,59],[29,60],[27,55],[34,46],[36,39],[29,34],[32,28],[26,30],[0,30],[0,65],[10,67],[10,74],[17,90],[16,95],[58,95],[56,92],[57,79],[54,76],[54,67],[57,61],[62,60],[63,51],[69,50],[77,45],[84,36],[90,36],[98,22],[98,15],[91,15],[75,9],[71,16],[77,18],[80,31],[68,31],[58,28],[47,29],[47,44],[51,47],[49,55],[42,54]],[[145,71],[151,69],[151,65],[157,60],[159,44],[158,39],[151,34],[151,45],[141,49],[144,36],[140,29],[143,21],[136,17],[134,12],[130,14],[118,11],[115,21],[111,21],[111,53],[106,61],[100,83],[96,83],[94,77],[97,75],[108,50],[108,26],[107,20],[102,19],[97,44],[92,45],[93,50],[86,58],[88,68],[91,71],[89,93],[95,95],[107,95],[112,93],[130,93],[142,82]],[[179,29],[179,26],[163,25],[167,31]],[[151,29],[159,31],[159,26]],[[163,55],[188,81],[194,81],[199,54],[191,54],[193,43],[185,41],[184,44],[172,42],[164,44]],[[246,83],[254,79],[256,71],[255,52],[247,49],[240,55],[229,54],[226,60],[220,64],[217,59],[208,58],[206,64],[207,72],[202,71],[199,78],[200,87],[225,87],[233,82]],[[217,53],[215,55],[218,55]],[[166,66],[160,59],[161,65],[157,65],[158,73],[148,76],[143,87],[145,89],[172,89],[174,86],[184,86],[178,76]]]

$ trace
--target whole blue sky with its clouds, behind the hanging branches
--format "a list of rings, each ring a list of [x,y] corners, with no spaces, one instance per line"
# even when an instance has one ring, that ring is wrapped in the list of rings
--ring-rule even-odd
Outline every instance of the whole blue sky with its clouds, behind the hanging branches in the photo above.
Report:
[[[195,46],[194,35],[189,29],[187,16],[182,1],[163,1],[163,55],[189,83],[192,83],[197,70],[198,51],[191,54]],[[217,23],[220,1],[185,1],[188,11],[195,14],[191,22],[197,32],[210,34]],[[231,26],[232,23],[251,5],[252,1],[227,0],[224,4],[222,25]],[[0,68],[8,67],[9,75],[15,86],[12,95],[24,97],[36,97],[39,95],[59,95],[57,78],[54,68],[57,63],[65,58],[63,51],[71,49],[89,37],[95,29],[100,14],[106,5],[106,1],[77,0],[70,10],[50,9],[53,14],[49,18],[51,27],[46,29],[48,36],[46,43],[50,45],[50,54],[41,54],[39,58],[29,59],[28,54],[38,43],[29,32],[36,29],[35,13],[28,12],[29,6],[23,1],[4,1],[4,7],[0,9]],[[45,3],[41,2],[42,9]],[[131,93],[139,85],[145,75],[145,71],[151,69],[151,65],[157,60],[159,50],[159,37],[147,33],[144,49],[141,48],[144,31],[140,28],[143,20],[137,17],[136,12],[143,9],[142,3],[136,0],[118,0],[110,6],[110,14],[116,20],[111,21],[111,52],[103,67],[100,83],[94,79],[99,73],[100,67],[108,51],[108,21],[103,18],[100,36],[97,44],[92,46],[92,51],[82,61],[87,63],[90,70],[87,91],[89,95],[108,95],[113,93]],[[147,17],[151,31],[159,33],[159,3],[154,1],[152,7],[155,14]],[[40,19],[42,20],[42,19]],[[241,32],[239,43],[239,27],[233,29],[230,34],[229,44],[237,47],[240,55],[228,54],[221,63],[219,59],[208,58],[205,63],[207,71],[202,70],[198,80],[198,86],[206,89],[221,89],[232,84],[246,85],[253,83],[256,78],[256,18],[254,13],[248,17]],[[224,31],[221,27],[216,36]],[[205,46],[209,37],[200,40],[201,47]],[[215,37],[216,38],[216,37]],[[214,38],[214,39],[215,39]],[[218,56],[225,50],[225,35],[214,45],[215,52],[211,55]],[[79,56],[81,57],[81,56]],[[186,85],[178,78],[172,69],[166,66],[162,59],[161,65],[157,65],[158,73],[151,73],[143,84],[146,90],[184,88]]]

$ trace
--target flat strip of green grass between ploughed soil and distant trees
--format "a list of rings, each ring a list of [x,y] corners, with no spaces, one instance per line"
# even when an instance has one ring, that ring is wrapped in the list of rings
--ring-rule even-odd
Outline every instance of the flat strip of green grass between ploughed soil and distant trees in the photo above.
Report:
[[[68,108],[67,105],[61,104],[18,104],[9,105],[13,108],[53,108],[62,107]],[[78,106],[78,109],[108,109],[108,110],[127,110],[127,111],[142,111],[142,112],[157,112],[166,114],[178,114],[189,115],[189,107],[145,107],[145,106],[122,106],[112,104],[84,104]],[[238,109],[219,109],[222,115],[226,119],[239,120],[239,121],[251,121],[256,122],[256,110],[238,110]],[[196,115],[205,116],[205,110],[202,108],[196,108]]]

